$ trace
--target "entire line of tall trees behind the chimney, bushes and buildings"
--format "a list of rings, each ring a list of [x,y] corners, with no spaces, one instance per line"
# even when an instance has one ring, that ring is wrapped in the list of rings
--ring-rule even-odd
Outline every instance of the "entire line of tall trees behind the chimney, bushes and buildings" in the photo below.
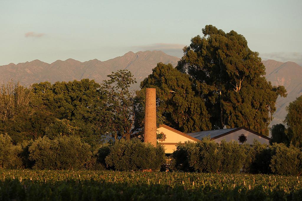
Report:
[[[0,133],[14,143],[61,134],[78,135],[91,146],[104,135],[129,140],[140,135],[145,88],[153,87],[158,123],[183,132],[245,126],[267,136],[284,87],[266,81],[261,58],[242,35],[211,25],[202,33],[183,49],[176,68],[158,63],[140,91],[130,91],[136,81],[127,70],[112,72],[102,84],[89,79],[41,82],[29,89],[3,84]]]

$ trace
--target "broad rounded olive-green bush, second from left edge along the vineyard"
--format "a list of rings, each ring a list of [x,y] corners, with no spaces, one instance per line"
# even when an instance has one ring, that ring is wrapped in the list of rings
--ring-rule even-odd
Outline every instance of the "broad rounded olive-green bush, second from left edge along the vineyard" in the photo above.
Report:
[[[38,138],[29,147],[29,159],[35,161],[34,169],[81,169],[90,159],[90,146],[74,135],[58,136],[50,140]]]

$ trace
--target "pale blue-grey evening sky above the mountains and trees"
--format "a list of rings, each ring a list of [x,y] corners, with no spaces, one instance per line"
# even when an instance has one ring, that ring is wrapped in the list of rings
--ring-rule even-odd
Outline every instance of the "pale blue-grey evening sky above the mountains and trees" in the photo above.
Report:
[[[1,0],[0,66],[182,48],[206,25],[243,35],[262,60],[302,66],[301,0]]]

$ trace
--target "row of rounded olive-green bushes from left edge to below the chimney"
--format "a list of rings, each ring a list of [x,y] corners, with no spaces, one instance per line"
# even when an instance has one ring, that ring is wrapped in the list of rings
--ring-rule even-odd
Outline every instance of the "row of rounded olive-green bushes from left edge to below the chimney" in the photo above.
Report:
[[[44,136],[13,145],[11,137],[0,135],[0,168],[8,169],[117,169],[159,170],[166,161],[162,146],[153,147],[138,139],[102,144],[91,150],[78,136]]]

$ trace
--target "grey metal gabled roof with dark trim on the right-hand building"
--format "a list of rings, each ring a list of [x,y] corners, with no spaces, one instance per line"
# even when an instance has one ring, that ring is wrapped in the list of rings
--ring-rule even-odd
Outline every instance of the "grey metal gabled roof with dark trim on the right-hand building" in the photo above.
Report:
[[[268,138],[264,135],[261,135],[255,131],[252,131],[248,128],[245,127],[240,127],[240,128],[225,128],[225,129],[218,129],[218,130],[211,130],[211,131],[200,131],[200,132],[194,132],[194,133],[187,133],[187,135],[190,135],[193,138],[196,138],[198,140],[201,140],[202,138],[206,137],[206,136],[210,136],[211,140],[215,140],[217,138],[221,138],[225,135],[231,134],[233,132],[239,131],[241,129],[244,129],[246,131],[249,131],[255,135],[258,135],[262,138],[265,138],[267,140],[271,140],[271,138]]]

